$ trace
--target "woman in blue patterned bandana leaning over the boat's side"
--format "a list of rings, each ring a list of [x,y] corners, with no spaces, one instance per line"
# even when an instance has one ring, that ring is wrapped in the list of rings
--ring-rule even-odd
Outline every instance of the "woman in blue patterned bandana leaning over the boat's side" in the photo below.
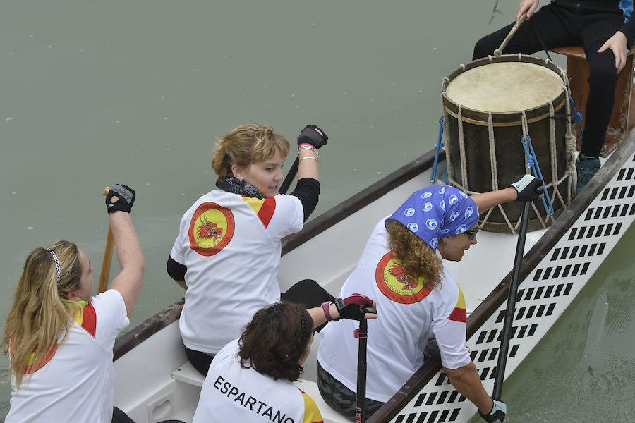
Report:
[[[442,260],[458,262],[476,244],[480,212],[503,202],[531,201],[542,184],[524,176],[509,188],[473,197],[457,188],[434,185],[413,193],[392,216],[377,223],[340,293],[369,295],[381,310],[380,317],[368,324],[373,334],[367,353],[369,415],[421,367],[431,338],[436,338],[444,372],[457,391],[484,415],[498,410],[480,383],[466,346],[463,293]],[[357,381],[352,330],[349,322],[327,325],[320,332],[317,353],[320,393],[327,404],[349,417],[354,415]]]

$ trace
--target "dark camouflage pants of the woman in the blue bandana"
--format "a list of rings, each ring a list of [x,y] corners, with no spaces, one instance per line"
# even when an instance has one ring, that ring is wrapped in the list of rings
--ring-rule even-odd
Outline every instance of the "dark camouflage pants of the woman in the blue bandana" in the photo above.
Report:
[[[319,361],[317,362],[317,389],[329,407],[344,417],[351,419],[351,421],[355,419],[357,394],[346,388],[344,384],[323,369]],[[366,398],[367,417],[373,415],[384,404],[380,401]]]

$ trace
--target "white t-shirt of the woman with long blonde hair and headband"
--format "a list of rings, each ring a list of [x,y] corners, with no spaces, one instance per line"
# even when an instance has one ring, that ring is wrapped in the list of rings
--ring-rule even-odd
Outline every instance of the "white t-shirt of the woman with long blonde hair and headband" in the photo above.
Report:
[[[128,324],[119,291],[107,290],[92,298],[53,357],[30,379],[25,375],[18,390],[12,378],[11,410],[5,422],[110,423],[112,348]]]

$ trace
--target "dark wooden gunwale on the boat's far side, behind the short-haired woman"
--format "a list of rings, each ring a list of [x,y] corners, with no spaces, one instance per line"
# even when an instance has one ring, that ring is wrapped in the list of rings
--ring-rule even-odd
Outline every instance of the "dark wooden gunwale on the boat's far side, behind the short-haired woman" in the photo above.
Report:
[[[445,153],[441,152],[439,160],[444,159]],[[374,202],[378,198],[390,192],[395,187],[406,183],[412,178],[423,173],[423,171],[433,166],[435,159],[435,150],[422,154],[408,164],[401,166],[396,171],[377,180],[377,182],[364,188],[357,194],[352,195],[343,202],[335,205],[326,212],[320,214],[312,221],[304,225],[302,231],[293,233],[282,239],[282,255],[294,250],[296,247],[303,245],[311,238],[326,231],[339,221],[346,219],[351,214],[358,212],[363,207]],[[113,361],[121,358],[123,355],[131,351],[135,346],[139,345],[154,333],[169,326],[169,324],[181,317],[181,310],[185,299],[181,298],[168,307],[162,309],[157,314],[148,317],[140,324],[135,326],[131,331],[124,333],[117,338],[113,348]]]

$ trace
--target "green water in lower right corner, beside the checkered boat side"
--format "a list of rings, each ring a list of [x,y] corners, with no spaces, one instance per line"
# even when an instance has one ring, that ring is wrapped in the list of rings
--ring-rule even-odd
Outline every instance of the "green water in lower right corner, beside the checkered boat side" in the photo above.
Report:
[[[631,225],[574,303],[505,381],[505,422],[635,420],[634,240]]]

